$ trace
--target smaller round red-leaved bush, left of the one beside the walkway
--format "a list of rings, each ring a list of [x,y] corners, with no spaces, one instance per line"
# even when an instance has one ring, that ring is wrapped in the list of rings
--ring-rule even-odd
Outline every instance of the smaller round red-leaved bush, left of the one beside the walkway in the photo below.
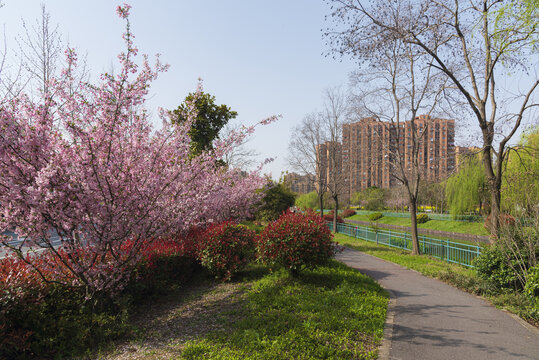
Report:
[[[198,259],[216,277],[230,280],[253,260],[255,236],[245,225],[215,224],[199,235]]]

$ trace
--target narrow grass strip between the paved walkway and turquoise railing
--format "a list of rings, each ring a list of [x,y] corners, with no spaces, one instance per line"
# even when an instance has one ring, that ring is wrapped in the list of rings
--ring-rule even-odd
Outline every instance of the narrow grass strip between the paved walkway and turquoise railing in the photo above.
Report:
[[[461,290],[481,295],[498,308],[517,314],[530,324],[539,327],[538,314],[533,311],[530,300],[518,292],[499,293],[487,281],[479,278],[473,269],[450,264],[426,255],[415,256],[409,251],[377,245],[353,237],[335,234],[341,245],[391,261],[433,278],[449,283]]]

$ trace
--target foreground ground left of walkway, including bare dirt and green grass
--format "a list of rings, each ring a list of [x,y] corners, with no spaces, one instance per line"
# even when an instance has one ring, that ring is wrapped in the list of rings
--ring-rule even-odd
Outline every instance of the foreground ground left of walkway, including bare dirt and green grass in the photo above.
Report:
[[[388,304],[337,261],[297,278],[253,266],[173,299],[146,309],[138,339],[100,359],[375,359]]]

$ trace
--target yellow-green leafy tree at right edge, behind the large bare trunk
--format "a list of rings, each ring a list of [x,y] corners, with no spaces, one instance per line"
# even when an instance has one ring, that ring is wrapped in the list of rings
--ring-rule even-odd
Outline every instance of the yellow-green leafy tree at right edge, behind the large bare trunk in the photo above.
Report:
[[[519,146],[509,153],[502,199],[502,209],[515,215],[530,214],[539,207],[539,127],[524,133]]]

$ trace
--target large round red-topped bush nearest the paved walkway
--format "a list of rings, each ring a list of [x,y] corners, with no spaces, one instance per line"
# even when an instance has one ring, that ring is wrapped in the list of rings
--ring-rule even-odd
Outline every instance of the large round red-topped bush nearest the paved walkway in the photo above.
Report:
[[[332,239],[325,220],[318,214],[289,211],[260,234],[259,259],[270,266],[285,267],[295,276],[302,268],[327,263],[335,254]]]

